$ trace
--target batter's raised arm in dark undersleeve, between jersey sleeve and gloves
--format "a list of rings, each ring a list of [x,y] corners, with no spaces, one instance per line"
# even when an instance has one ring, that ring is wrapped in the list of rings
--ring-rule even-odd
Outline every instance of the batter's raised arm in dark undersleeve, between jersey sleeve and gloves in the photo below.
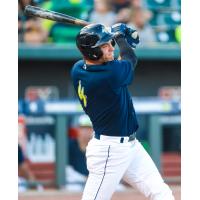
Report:
[[[119,46],[121,60],[129,60],[132,63],[133,68],[135,68],[137,64],[137,57],[134,50],[130,47],[123,36],[118,36],[116,38],[116,42]]]

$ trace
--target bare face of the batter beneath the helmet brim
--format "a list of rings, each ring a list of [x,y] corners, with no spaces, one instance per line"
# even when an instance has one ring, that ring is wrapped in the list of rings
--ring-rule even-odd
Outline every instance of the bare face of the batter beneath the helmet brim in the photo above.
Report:
[[[102,59],[103,59],[104,62],[114,60],[114,50],[115,50],[115,48],[113,47],[111,42],[103,44],[101,46],[101,50],[103,52]]]

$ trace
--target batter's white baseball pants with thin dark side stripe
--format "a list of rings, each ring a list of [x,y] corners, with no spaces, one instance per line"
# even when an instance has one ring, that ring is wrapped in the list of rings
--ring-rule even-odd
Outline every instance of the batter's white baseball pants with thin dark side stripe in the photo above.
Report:
[[[150,200],[174,200],[152,159],[135,139],[92,138],[86,149],[88,180],[82,200],[110,200],[121,179]],[[133,198],[134,199],[134,198]]]

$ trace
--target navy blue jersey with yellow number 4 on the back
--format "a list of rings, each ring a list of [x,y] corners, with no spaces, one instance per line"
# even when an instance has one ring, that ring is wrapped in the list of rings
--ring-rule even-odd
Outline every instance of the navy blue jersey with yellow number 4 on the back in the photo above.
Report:
[[[133,80],[130,61],[85,65],[80,60],[73,66],[71,75],[80,103],[96,134],[129,136],[138,129],[127,88]]]

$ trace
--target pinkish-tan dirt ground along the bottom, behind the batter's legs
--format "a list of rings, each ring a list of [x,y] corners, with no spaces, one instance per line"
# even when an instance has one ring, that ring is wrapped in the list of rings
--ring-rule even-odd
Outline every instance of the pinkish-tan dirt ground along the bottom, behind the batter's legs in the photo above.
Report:
[[[171,186],[175,200],[181,199],[181,187]],[[81,193],[71,193],[67,191],[46,190],[43,192],[29,191],[19,194],[19,200],[80,200]],[[147,200],[139,192],[127,190],[124,192],[116,192],[112,200]]]

